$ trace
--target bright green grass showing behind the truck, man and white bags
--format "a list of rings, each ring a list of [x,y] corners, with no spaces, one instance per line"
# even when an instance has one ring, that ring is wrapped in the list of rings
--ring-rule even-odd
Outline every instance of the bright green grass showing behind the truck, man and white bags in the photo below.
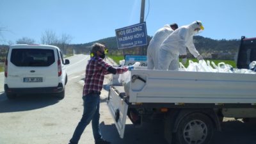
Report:
[[[113,61],[115,61],[117,64],[119,64],[120,60],[124,60],[124,56],[108,56],[108,57],[111,58]],[[189,60],[192,60],[194,62],[198,62],[198,60],[195,59],[195,58],[194,59],[188,59],[188,61]],[[186,65],[184,65],[185,67],[188,67],[188,64],[189,64],[188,61],[187,61]],[[218,65],[218,63],[224,62],[226,64],[232,65],[233,68],[236,68],[236,62],[232,61],[232,60],[209,60],[209,61],[213,61],[216,65]]]

